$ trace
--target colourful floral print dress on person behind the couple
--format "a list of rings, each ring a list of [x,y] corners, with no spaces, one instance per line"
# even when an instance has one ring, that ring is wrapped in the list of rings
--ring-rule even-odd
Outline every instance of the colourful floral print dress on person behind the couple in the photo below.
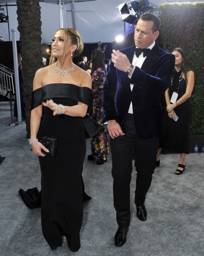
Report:
[[[100,125],[103,125],[102,93],[105,78],[106,71],[102,68],[96,69],[91,76],[93,92],[91,117]],[[104,161],[106,161],[106,157],[109,154],[109,147],[104,125],[103,128],[91,138],[91,151],[92,156],[94,156],[96,160],[104,159]]]

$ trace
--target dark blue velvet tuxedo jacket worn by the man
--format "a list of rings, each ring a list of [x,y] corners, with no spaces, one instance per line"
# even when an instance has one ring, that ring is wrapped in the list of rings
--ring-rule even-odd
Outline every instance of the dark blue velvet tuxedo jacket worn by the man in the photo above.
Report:
[[[120,51],[132,63],[135,46]],[[160,96],[171,82],[174,66],[175,56],[160,49],[157,44],[142,67],[135,67],[131,78],[128,73],[117,70],[111,62],[103,89],[103,122],[114,119],[123,127],[132,101],[134,123],[139,137],[159,137],[162,134]],[[132,91],[130,84],[134,84]]]

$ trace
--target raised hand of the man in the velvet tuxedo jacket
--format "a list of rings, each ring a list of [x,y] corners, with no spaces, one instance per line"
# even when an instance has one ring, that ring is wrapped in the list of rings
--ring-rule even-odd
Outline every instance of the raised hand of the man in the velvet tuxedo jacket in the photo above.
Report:
[[[112,56],[112,62],[114,63],[114,67],[118,70],[126,72],[127,69],[131,66],[131,63],[128,59],[128,57],[123,54],[120,51],[113,50]]]

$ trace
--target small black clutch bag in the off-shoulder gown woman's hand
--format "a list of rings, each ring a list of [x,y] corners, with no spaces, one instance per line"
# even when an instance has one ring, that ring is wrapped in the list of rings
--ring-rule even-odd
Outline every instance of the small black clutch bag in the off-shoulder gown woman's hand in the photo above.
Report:
[[[39,136],[37,137],[38,141],[45,146],[49,152],[41,150],[43,154],[55,157],[57,155],[57,138],[48,137],[48,136]]]

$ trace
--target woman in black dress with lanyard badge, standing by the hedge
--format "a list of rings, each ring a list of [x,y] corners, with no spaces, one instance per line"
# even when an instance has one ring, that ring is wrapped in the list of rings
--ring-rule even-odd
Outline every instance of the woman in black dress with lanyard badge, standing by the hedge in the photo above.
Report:
[[[185,155],[189,154],[189,98],[193,91],[194,73],[186,67],[185,54],[181,48],[175,48],[172,54],[175,55],[175,70],[172,83],[165,92],[167,111],[163,118],[164,135],[162,147],[168,151],[181,154],[179,165],[175,172],[175,174],[180,175],[185,170]],[[179,117],[177,121],[174,120],[176,116]],[[157,161],[159,161],[158,158],[161,149],[158,149]]]

